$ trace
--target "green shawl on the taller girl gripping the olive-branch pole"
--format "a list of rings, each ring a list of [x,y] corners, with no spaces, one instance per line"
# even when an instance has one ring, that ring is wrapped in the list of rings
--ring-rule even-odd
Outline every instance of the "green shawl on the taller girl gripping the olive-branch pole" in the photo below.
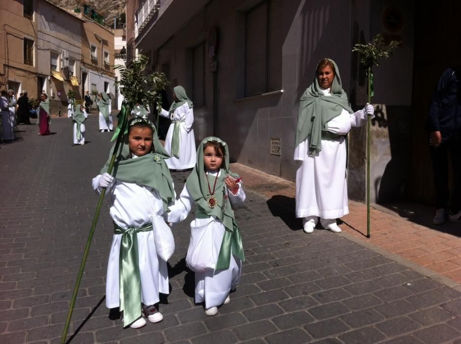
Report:
[[[139,121],[139,117],[132,118],[128,123],[128,128]],[[147,120],[144,121],[147,122]],[[128,135],[125,135],[124,143],[121,144],[121,148],[119,148],[118,156],[114,163],[112,176],[124,182],[146,185],[156,189],[163,201],[163,210],[166,211],[168,205],[175,200],[175,191],[173,188],[173,180],[171,179],[170,169],[164,160],[168,159],[169,155],[161,145],[160,141],[158,141],[154,124],[151,122],[149,123],[153,133],[153,151],[149,154],[131,159],[128,147]],[[111,148],[109,159],[102,168],[101,174],[107,172],[109,169],[114,148],[115,144]]]

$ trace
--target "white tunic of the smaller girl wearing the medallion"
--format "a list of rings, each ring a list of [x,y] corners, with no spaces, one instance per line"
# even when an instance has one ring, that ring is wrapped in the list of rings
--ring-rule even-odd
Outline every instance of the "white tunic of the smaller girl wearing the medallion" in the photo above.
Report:
[[[220,173],[220,172],[219,172]],[[216,175],[212,173],[211,175]],[[245,192],[242,189],[241,182],[239,184],[239,191],[236,195],[229,192],[229,201],[233,206],[242,204],[245,201]],[[192,208],[193,201],[184,185],[180,198],[175,201],[173,206],[170,206],[168,213],[168,222],[183,221],[189,214]],[[210,216],[207,219],[195,219],[190,223],[190,230],[197,230],[199,227],[206,225],[211,226],[206,235],[213,234],[212,242],[213,247],[209,251],[213,251],[215,265],[221,248],[222,238],[224,236],[224,225],[216,219],[215,216]],[[190,244],[189,244],[190,245]],[[204,252],[204,255],[209,257],[210,252]],[[231,255],[229,268],[227,270],[206,269],[204,272],[195,272],[195,302],[205,302],[205,308],[211,308],[222,305],[229,291],[235,289],[240,280],[240,273],[242,270],[242,261],[239,258]]]

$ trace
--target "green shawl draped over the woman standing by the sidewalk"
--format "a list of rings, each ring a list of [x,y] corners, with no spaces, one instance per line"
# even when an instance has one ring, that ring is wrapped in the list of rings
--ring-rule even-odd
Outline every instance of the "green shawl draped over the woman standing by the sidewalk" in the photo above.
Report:
[[[341,86],[338,66],[335,61],[330,61],[336,69],[336,75],[331,86],[331,95],[323,94],[316,75],[313,83],[307,87],[299,102],[295,148],[309,138],[309,155],[322,150],[322,131],[326,129],[326,124],[330,120],[339,116],[342,109],[353,113],[346,92]]]

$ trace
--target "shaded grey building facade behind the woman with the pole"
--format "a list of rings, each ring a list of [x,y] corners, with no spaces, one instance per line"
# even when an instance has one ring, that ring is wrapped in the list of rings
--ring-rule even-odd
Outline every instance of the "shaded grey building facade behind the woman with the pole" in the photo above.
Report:
[[[417,183],[412,180],[419,170],[431,170],[427,140],[425,149],[413,142],[425,135],[424,125],[413,123],[425,121],[430,102],[424,99],[424,111],[413,111],[421,103],[414,98],[421,83],[414,80],[424,73],[424,54],[415,51],[433,44],[445,54],[430,64],[427,95],[448,61],[459,56],[454,42],[460,41],[460,30],[454,23],[460,5],[442,0],[437,12],[451,18],[442,20],[430,15],[429,4],[416,6],[412,0],[130,2],[128,44],[150,57],[152,69],[165,72],[172,86],[185,87],[194,102],[196,140],[219,136],[229,143],[231,161],[290,179],[297,168],[293,145],[299,99],[318,61],[330,57],[337,62],[351,106],[359,110],[367,101],[367,78],[360,57],[351,52],[354,44],[367,43],[377,33],[401,41],[392,58],[374,70],[370,196],[380,202],[431,201],[433,192],[418,193],[429,190],[430,172]],[[424,22],[432,23],[430,37],[446,36],[449,29],[457,39],[452,37],[449,48],[436,39],[425,42],[419,35],[428,30],[422,29]],[[431,56],[437,54],[433,51]],[[348,143],[349,196],[361,201],[366,199],[366,139],[365,128],[353,129]],[[417,152],[425,154],[422,166],[411,159]]]

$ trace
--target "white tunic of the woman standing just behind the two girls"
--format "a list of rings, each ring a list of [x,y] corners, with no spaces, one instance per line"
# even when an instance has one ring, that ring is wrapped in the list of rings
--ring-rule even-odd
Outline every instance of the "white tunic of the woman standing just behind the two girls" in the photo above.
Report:
[[[171,155],[171,140],[173,138],[173,131],[175,129],[175,122],[180,122],[180,146],[179,146],[179,159],[172,156],[165,160],[168,168],[172,170],[185,170],[191,169],[197,162],[197,150],[195,149],[195,137],[192,124],[194,123],[193,109],[189,108],[189,104],[184,103],[177,108],[172,115],[162,109],[160,115],[171,119],[170,127],[165,138],[165,150]]]

